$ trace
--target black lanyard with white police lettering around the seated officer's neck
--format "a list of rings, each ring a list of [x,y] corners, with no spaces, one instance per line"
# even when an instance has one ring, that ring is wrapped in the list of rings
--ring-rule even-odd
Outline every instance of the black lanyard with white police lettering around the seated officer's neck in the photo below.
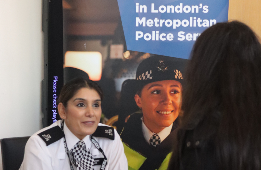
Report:
[[[64,120],[63,120],[62,123],[61,123],[61,129],[62,129],[62,131],[64,132]],[[103,163],[102,163],[101,168],[100,168],[100,170],[104,170],[105,167],[106,167],[106,165],[107,165],[107,158],[106,158],[106,156],[105,156],[105,154],[104,154],[102,148],[101,148],[100,145],[98,144],[98,142],[97,142],[95,139],[92,138],[92,135],[90,135],[90,139],[91,139],[92,143],[94,144],[94,146],[95,146],[95,147],[103,154],[103,156],[104,156],[104,158],[103,158]],[[68,149],[68,147],[67,147],[67,143],[66,143],[66,140],[65,140],[65,135],[64,135],[64,139],[63,139],[63,140],[64,140],[64,149],[65,149],[65,152],[67,153],[67,155],[68,155],[68,157],[69,157],[70,168],[71,168],[71,170],[74,170],[74,169],[73,169],[72,162],[71,162],[71,159],[70,159],[70,155],[69,155],[69,149]]]

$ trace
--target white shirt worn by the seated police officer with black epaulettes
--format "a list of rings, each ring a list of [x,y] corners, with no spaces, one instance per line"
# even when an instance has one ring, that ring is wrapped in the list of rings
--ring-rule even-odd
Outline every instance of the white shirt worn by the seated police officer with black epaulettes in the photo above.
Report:
[[[33,134],[25,145],[25,155],[22,165],[19,170],[71,170],[69,158],[64,149],[63,138],[56,142],[49,144],[40,138],[38,135],[55,126],[61,127],[61,120],[53,123],[49,127],[45,127],[40,131]],[[98,126],[107,126],[99,123]],[[79,139],[71,133],[66,124],[64,123],[64,134],[69,150],[79,141]],[[124,154],[123,144],[120,140],[119,134],[114,129],[114,140],[108,138],[94,137],[97,143],[102,148],[105,156],[107,157],[107,165],[105,170],[127,170],[128,163]],[[45,136],[46,140],[50,136]],[[89,148],[93,158],[103,158],[102,153],[96,148],[96,146],[90,140],[90,136],[87,135],[83,141],[86,144],[86,148]],[[73,165],[74,167],[74,165]],[[100,170],[101,165],[95,165],[94,170]],[[74,169],[76,169],[74,167]]]

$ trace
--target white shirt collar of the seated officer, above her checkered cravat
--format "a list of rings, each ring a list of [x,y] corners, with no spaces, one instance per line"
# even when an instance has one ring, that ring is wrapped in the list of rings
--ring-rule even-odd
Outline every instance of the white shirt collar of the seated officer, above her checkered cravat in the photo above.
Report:
[[[74,147],[74,145],[80,140],[69,130],[65,122],[64,122],[64,135],[65,135],[68,150],[71,150]],[[87,135],[82,140],[86,145],[86,149],[90,149],[91,148],[90,135]]]

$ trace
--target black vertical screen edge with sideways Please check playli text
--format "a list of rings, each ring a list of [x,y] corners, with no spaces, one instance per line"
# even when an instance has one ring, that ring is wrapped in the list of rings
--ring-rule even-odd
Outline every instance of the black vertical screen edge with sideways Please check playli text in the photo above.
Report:
[[[63,4],[62,0],[43,0],[42,31],[44,32],[44,79],[42,80],[42,125],[58,120],[57,99],[53,80],[58,76],[56,96],[63,87]],[[56,103],[56,104],[54,104]],[[55,113],[53,113],[55,110]],[[55,116],[55,119],[54,119]]]

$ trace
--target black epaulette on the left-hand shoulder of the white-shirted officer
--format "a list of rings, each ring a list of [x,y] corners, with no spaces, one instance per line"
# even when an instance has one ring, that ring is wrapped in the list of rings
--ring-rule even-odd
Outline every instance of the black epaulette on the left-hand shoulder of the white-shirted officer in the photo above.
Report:
[[[46,143],[46,146],[52,144],[64,137],[64,132],[59,126],[52,127],[38,134]]]

